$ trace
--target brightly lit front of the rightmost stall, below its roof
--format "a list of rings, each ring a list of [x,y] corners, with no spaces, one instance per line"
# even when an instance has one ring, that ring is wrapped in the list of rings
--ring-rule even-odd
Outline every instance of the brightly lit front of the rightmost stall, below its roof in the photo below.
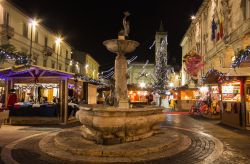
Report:
[[[250,127],[250,78],[231,77],[222,84],[222,122],[236,128]]]

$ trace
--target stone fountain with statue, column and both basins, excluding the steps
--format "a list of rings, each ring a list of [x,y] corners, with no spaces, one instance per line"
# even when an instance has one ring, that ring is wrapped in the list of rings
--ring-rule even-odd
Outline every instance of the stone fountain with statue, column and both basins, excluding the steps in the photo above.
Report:
[[[136,141],[155,134],[159,129],[164,115],[161,108],[129,109],[127,90],[127,59],[126,54],[133,52],[139,43],[127,40],[129,32],[129,16],[125,12],[124,29],[118,34],[118,39],[103,42],[106,48],[115,53],[115,98],[118,107],[100,107],[83,109],[77,113],[82,126],[84,138],[100,144],[117,144]]]

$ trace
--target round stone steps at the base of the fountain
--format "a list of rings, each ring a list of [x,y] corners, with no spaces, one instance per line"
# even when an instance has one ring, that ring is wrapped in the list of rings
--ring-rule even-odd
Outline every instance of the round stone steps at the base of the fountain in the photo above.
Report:
[[[191,139],[171,129],[139,141],[100,145],[86,140],[81,130],[52,133],[39,142],[40,149],[60,160],[76,163],[144,162],[173,156],[191,145]]]

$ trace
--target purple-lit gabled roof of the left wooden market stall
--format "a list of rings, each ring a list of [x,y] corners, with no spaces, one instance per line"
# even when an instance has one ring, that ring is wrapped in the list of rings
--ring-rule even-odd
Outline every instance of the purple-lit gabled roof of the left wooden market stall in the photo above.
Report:
[[[0,78],[11,77],[67,77],[72,78],[74,74],[45,68],[36,65],[21,65],[0,70]]]

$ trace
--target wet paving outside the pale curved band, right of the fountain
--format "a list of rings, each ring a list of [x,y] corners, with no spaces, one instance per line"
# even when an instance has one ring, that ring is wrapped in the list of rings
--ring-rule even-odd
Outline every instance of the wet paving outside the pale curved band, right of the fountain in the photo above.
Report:
[[[224,151],[220,158],[213,162],[215,164],[250,163],[250,131],[230,128],[220,124],[220,121],[182,115],[167,115],[164,125],[203,132],[218,138],[223,143]],[[189,162],[191,161],[185,161]]]

